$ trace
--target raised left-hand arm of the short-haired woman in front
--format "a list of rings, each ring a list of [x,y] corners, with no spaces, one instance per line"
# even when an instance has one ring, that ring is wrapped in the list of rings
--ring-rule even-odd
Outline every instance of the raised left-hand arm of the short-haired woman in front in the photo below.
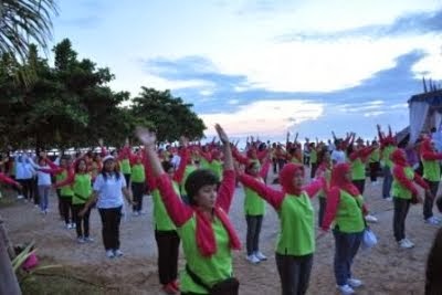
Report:
[[[144,128],[137,128],[137,136],[146,147],[146,156],[150,164],[152,176],[157,179],[157,186],[165,203],[166,210],[177,226],[185,224],[191,217],[192,210],[181,202],[173,190],[170,178],[165,173],[161,162],[155,150],[155,134]]]

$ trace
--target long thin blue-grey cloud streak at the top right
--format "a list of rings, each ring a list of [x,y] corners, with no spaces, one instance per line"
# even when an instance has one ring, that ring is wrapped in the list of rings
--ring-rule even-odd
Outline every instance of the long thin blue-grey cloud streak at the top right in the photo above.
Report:
[[[392,23],[364,25],[335,32],[292,32],[276,38],[280,42],[292,41],[336,41],[354,38],[390,38],[442,32],[442,9],[430,12],[409,13]]]

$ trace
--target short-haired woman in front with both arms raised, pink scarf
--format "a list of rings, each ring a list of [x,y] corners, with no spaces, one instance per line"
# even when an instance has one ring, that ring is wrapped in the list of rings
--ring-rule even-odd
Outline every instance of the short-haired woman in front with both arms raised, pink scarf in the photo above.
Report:
[[[220,125],[215,125],[215,129],[224,147],[223,178],[219,185],[218,177],[210,170],[191,172],[185,183],[190,206],[181,201],[164,171],[155,151],[155,135],[143,128],[137,130],[157,178],[160,197],[182,241],[187,267],[182,273],[181,294],[208,294],[218,283],[229,284],[228,293],[223,294],[238,294],[238,281],[231,277],[231,250],[239,250],[241,243],[228,215],[235,172],[229,138]]]

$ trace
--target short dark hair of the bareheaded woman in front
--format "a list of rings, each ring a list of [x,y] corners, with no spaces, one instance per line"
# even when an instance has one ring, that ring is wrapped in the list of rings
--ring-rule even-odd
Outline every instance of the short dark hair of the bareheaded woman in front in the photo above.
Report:
[[[209,169],[198,169],[191,172],[185,183],[185,189],[187,191],[187,197],[189,198],[189,203],[194,206],[197,201],[194,197],[198,191],[204,186],[219,185],[220,179],[215,173]]]

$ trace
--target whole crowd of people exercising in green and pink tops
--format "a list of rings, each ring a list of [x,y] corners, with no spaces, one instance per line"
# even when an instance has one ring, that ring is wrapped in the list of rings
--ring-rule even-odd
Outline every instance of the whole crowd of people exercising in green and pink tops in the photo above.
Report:
[[[67,230],[75,229],[77,243],[91,243],[90,214],[97,208],[102,221],[105,255],[123,255],[119,224],[123,214],[145,214],[143,199],[152,197],[155,240],[158,245],[158,275],[168,294],[238,294],[232,251],[241,241],[229,218],[235,189],[244,190],[246,220],[245,259],[259,264],[267,257],[260,251],[260,232],[265,222],[265,202],[280,219],[275,247],[276,268],[283,295],[305,294],[314,264],[315,243],[333,232],[334,272],[340,294],[354,294],[364,282],[351,274],[351,264],[364,241],[367,222],[377,222],[364,200],[367,171],[370,182],[382,179],[382,196],[394,207],[392,236],[401,249],[414,243],[407,238],[406,219],[410,206],[423,203],[422,220],[438,225],[433,214],[441,179],[442,152],[431,134],[422,134],[415,145],[397,143],[391,128],[378,126],[378,138],[365,141],[356,134],[304,146],[297,135],[286,143],[264,143],[248,138],[244,150],[233,144],[220,125],[219,141],[206,145],[182,137],[178,146],[159,148],[156,136],[138,128],[141,147],[124,147],[110,152],[98,140],[99,152],[52,159],[15,152],[0,161],[0,181],[13,186],[18,199],[49,212],[51,188],[56,192],[55,210]],[[274,183],[269,171],[277,175]],[[309,173],[307,175],[307,171]],[[305,183],[307,181],[307,183]],[[418,189],[421,187],[423,190]],[[422,193],[423,192],[423,193]],[[311,199],[318,198],[317,221]],[[126,201],[125,201],[126,199]],[[317,223],[317,228],[315,226]],[[442,294],[440,280],[441,233],[429,256],[425,292]],[[179,246],[186,267],[178,280]]]

